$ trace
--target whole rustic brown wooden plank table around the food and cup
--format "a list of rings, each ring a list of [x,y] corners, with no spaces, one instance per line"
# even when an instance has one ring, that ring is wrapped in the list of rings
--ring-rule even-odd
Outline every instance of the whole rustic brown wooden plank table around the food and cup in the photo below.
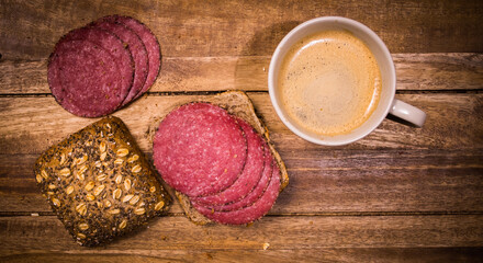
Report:
[[[46,61],[63,34],[113,13],[143,21],[161,44],[149,93],[114,113],[149,157],[149,127],[167,108],[247,92],[291,176],[262,220],[200,227],[175,203],[168,216],[106,247],[72,242],[32,167],[94,119],[55,102]],[[381,36],[396,65],[396,98],[428,114],[423,128],[389,118],[367,138],[329,148],[281,123],[267,92],[271,54],[294,26],[324,15],[358,20]],[[482,22],[482,1],[2,0],[0,261],[481,261]]]

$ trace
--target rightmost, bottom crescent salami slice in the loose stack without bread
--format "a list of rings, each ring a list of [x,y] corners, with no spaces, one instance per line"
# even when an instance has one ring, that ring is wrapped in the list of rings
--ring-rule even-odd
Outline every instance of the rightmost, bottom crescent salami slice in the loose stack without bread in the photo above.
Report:
[[[143,41],[147,49],[149,71],[142,91],[136,95],[136,98],[139,98],[147,90],[149,90],[149,88],[153,85],[156,78],[158,77],[159,69],[161,67],[161,48],[159,47],[159,43],[158,39],[156,39],[156,36],[145,24],[128,16],[121,16],[121,15],[113,15],[113,16],[115,18],[116,21],[125,24],[127,27],[134,31]]]

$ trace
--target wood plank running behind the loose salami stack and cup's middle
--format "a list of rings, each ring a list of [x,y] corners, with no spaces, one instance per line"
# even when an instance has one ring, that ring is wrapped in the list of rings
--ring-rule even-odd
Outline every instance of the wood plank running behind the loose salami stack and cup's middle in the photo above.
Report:
[[[482,54],[394,54],[397,90],[483,89]],[[270,56],[165,57],[150,92],[267,91]],[[0,94],[50,93],[47,62],[0,61]]]

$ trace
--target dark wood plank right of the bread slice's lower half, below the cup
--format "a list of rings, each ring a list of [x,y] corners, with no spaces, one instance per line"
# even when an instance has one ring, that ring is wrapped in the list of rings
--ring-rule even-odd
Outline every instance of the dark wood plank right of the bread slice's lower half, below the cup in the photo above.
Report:
[[[290,184],[270,215],[483,211],[483,150],[281,150]],[[147,152],[150,155],[149,152]],[[0,155],[0,213],[49,214],[37,155]],[[176,202],[170,214],[182,214]]]

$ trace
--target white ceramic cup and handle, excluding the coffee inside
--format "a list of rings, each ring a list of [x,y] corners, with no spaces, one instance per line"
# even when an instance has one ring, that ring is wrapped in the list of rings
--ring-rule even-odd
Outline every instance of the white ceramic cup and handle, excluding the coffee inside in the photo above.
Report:
[[[289,114],[281,106],[281,94],[277,88],[277,82],[280,67],[290,47],[304,36],[329,30],[349,31],[352,35],[366,43],[379,64],[382,78],[382,89],[378,106],[372,115],[361,126],[353,129],[349,134],[321,136],[304,129],[289,117]],[[394,62],[390,52],[387,50],[387,47],[384,45],[381,38],[379,38],[379,36],[366,25],[346,18],[324,16],[313,19],[293,28],[280,42],[279,46],[273,53],[268,73],[268,88],[273,107],[285,126],[300,137],[318,145],[339,146],[361,139],[374,130],[387,116],[387,113],[391,113],[392,115],[395,115],[419,127],[422,127],[426,121],[426,114],[423,111],[394,99],[396,92],[396,73]]]

